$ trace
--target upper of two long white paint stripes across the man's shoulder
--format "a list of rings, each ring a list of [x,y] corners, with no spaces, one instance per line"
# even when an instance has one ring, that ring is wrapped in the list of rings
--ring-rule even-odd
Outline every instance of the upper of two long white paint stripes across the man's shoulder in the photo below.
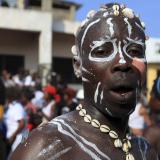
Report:
[[[103,157],[106,158],[107,160],[110,160],[110,158],[109,158],[106,154],[104,154],[103,152],[101,152],[95,144],[87,141],[85,138],[83,138],[82,136],[80,136],[79,134],[77,134],[77,133],[73,130],[73,128],[72,128],[71,126],[69,126],[64,120],[62,120],[62,119],[55,119],[55,121],[56,121],[56,122],[61,122],[64,126],[66,126],[66,127],[70,130],[70,132],[71,132],[75,137],[78,137],[83,143],[85,143],[86,145],[92,147],[97,153],[99,153],[101,156],[103,156]]]

